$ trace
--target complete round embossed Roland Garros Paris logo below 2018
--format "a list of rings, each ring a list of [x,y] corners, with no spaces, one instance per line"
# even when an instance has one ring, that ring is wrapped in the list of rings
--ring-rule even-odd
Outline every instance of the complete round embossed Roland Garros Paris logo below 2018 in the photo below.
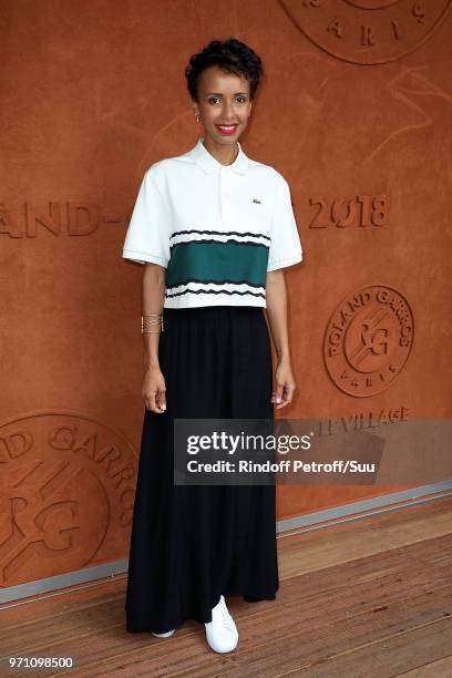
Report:
[[[323,339],[327,371],[345,393],[374,396],[403,368],[413,336],[407,299],[390,287],[364,287],[350,294],[330,318]]]

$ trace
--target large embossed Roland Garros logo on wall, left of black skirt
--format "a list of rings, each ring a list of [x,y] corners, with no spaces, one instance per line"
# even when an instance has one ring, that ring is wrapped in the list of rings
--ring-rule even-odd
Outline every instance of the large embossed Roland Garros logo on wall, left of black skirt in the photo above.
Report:
[[[126,552],[137,455],[85,414],[39,411],[0,422],[0,586]]]

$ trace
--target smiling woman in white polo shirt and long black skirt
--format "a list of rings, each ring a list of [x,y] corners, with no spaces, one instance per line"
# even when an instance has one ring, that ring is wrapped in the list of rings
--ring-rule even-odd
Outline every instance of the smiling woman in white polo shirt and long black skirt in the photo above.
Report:
[[[173,420],[273,418],[294,394],[284,267],[301,260],[286,179],[238,138],[263,65],[235,39],[186,68],[194,147],[145,173],[123,256],[145,265],[145,402],[126,629],[171,636],[204,623],[218,653],[238,640],[225,596],[274,599],[274,485],[175,485]],[[278,358],[273,392],[267,308]]]

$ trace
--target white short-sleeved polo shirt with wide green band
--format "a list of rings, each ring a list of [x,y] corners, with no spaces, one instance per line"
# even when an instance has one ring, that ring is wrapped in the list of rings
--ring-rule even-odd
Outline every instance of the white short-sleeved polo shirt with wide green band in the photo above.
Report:
[[[204,146],[145,172],[123,257],[166,268],[165,308],[266,307],[266,274],[301,261],[289,186],[238,143],[232,165]]]

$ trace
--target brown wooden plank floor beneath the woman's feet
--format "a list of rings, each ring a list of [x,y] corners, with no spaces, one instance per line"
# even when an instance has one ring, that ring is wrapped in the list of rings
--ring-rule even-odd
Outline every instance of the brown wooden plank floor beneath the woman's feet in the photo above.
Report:
[[[238,630],[217,655],[204,626],[127,634],[125,578],[1,613],[7,656],[72,656],[71,671],[1,676],[452,677],[452,497],[280,536],[277,600],[227,599]]]

